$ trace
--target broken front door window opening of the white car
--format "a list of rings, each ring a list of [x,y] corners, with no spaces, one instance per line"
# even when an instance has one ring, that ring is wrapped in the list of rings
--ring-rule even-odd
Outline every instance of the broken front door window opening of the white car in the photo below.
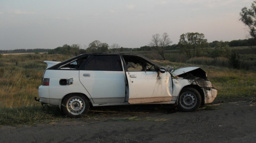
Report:
[[[156,71],[154,65],[147,60],[132,55],[123,55],[128,71]]]

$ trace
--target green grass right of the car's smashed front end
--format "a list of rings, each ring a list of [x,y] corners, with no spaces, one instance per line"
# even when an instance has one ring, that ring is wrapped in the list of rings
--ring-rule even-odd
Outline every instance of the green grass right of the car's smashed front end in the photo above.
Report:
[[[216,67],[205,68],[205,71],[213,86],[218,89],[217,100],[256,97],[254,71]]]

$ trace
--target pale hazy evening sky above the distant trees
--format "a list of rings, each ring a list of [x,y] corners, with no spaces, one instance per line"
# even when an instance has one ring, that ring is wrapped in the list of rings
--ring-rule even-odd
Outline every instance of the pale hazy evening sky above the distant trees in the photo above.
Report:
[[[166,32],[203,33],[208,42],[246,39],[241,9],[253,0],[0,0],[0,50],[54,49],[99,40],[126,48]],[[172,45],[171,44],[171,45]]]

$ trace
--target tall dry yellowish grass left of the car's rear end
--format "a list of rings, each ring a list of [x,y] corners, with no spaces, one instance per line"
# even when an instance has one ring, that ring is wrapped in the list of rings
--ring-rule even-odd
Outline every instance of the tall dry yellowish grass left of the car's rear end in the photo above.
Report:
[[[67,57],[66,57],[67,58]],[[5,55],[0,58],[0,107],[16,108],[40,105],[35,102],[38,86],[46,68],[44,60],[64,60],[48,54]]]

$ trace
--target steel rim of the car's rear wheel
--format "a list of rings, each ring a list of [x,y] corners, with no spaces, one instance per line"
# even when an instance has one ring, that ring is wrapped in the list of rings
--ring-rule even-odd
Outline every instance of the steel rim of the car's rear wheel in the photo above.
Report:
[[[72,97],[68,99],[67,102],[67,108],[69,113],[72,113],[73,115],[78,115],[83,113],[85,109],[85,102],[83,98],[80,97]]]

